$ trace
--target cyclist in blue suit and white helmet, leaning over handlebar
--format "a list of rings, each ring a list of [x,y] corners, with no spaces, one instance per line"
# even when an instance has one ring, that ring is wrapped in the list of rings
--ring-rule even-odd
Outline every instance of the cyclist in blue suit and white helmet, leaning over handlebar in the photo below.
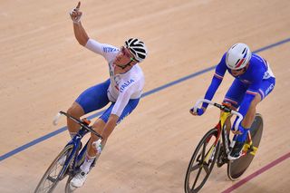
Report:
[[[218,63],[205,99],[212,100],[226,72],[229,72],[235,79],[227,91],[224,102],[229,103],[234,110],[239,108],[238,112],[244,116],[238,130],[232,128],[236,134],[233,139],[235,145],[228,156],[228,159],[238,159],[247,140],[247,130],[254,121],[256,105],[273,91],[275,76],[264,58],[251,53],[247,44],[236,43],[229,48],[227,53],[224,53]],[[203,103],[197,112],[191,109],[190,113],[200,116],[207,110],[207,107],[208,103]],[[227,121],[227,126],[230,127],[230,121]]]

